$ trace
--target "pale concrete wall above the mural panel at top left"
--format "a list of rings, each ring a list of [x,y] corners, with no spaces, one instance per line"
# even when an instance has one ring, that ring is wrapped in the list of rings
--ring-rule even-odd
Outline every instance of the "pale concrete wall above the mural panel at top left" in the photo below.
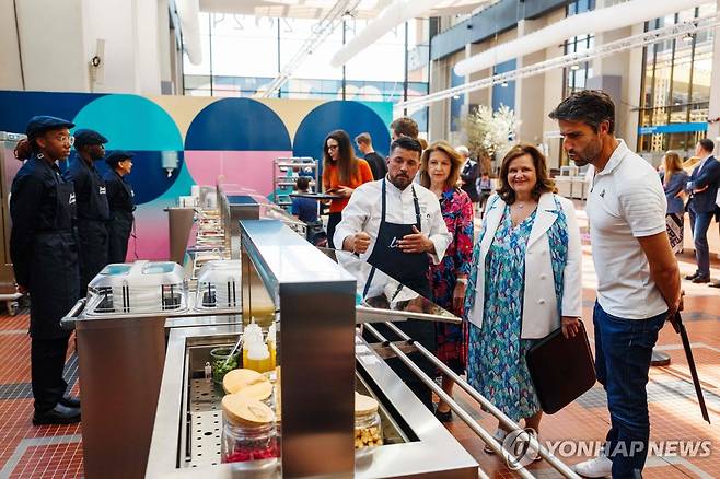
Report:
[[[22,0],[14,5],[16,23],[13,1],[0,0],[0,90],[152,95],[161,92],[161,68],[172,80],[167,0]],[[98,38],[105,40],[104,78],[92,82],[89,62]]]

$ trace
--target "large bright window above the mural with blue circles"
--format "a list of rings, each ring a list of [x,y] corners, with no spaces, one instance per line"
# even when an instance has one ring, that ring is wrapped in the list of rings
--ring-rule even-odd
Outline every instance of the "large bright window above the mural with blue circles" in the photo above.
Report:
[[[278,96],[283,98],[400,102],[427,95],[429,78],[428,19],[408,22],[350,59],[333,68],[329,58],[368,24],[349,19],[293,71]],[[317,20],[200,13],[202,62],[184,57],[185,94],[253,96],[277,77],[313,35]],[[344,32],[345,28],[345,32]],[[406,55],[408,71],[406,73]],[[427,131],[427,108],[408,112]]]

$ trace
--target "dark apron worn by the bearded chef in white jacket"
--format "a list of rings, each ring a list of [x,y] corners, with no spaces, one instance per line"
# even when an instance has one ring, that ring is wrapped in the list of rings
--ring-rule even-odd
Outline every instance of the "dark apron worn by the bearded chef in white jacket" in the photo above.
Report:
[[[413,202],[415,205],[415,224],[398,224],[390,223],[385,221],[386,217],[386,187],[385,179],[383,179],[382,187],[382,217],[380,220],[380,229],[378,230],[378,238],[375,240],[375,245],[372,248],[370,257],[368,257],[368,262],[372,265],[370,274],[368,276],[368,281],[365,282],[363,296],[368,294],[370,283],[373,280],[375,274],[375,268],[380,269],[385,274],[391,278],[399,281],[400,283],[409,287],[415,292],[421,294],[425,297],[432,297],[430,290],[430,282],[428,281],[428,269],[430,267],[430,261],[428,259],[427,253],[403,253],[400,248],[396,246],[397,242],[403,238],[403,236],[413,234],[413,226],[416,226],[418,231],[421,230],[420,222],[420,206],[418,203],[418,197],[415,194],[415,187],[413,188]],[[395,334],[393,334],[390,328],[383,324],[373,325],[375,328],[387,339],[397,340]],[[408,319],[406,322],[396,323],[397,326],[403,332],[408,335],[410,338],[426,347],[428,350],[433,352],[436,350],[436,326],[434,323],[425,322],[419,319]],[[370,339],[371,336],[365,336]],[[371,342],[376,341],[372,337]],[[430,377],[434,375],[434,366],[432,363],[427,361],[425,357],[420,353],[409,354],[410,359]],[[429,389],[420,383],[420,379],[405,366],[397,358],[390,359],[387,364],[397,373],[397,375],[410,386],[414,393],[416,393],[426,406],[432,408],[432,399],[429,395]],[[413,385],[410,384],[413,383]],[[425,394],[419,393],[422,389],[427,389]],[[428,405],[427,401],[430,400]]]

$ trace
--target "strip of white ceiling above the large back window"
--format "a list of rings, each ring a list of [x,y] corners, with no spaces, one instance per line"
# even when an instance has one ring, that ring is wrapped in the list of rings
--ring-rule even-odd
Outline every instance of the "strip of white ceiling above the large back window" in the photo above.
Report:
[[[362,0],[355,16],[373,19],[393,0]],[[442,0],[423,16],[471,13],[496,0]],[[322,19],[333,8],[334,0],[200,0],[200,11],[240,15]]]

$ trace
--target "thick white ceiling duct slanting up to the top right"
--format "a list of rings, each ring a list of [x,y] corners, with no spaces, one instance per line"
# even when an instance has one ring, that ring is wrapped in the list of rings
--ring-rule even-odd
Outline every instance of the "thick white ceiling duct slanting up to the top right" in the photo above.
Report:
[[[537,32],[500,44],[455,65],[455,73],[465,77],[503,61],[559,45],[589,32],[599,34],[623,28],[670,13],[708,3],[708,0],[629,0],[604,9],[568,16]]]

